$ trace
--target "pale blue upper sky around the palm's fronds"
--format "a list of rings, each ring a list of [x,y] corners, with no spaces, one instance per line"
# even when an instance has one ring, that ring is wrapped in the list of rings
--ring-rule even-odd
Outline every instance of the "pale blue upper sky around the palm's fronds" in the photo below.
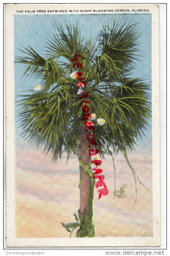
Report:
[[[72,17],[75,15],[69,15]],[[76,15],[77,16],[77,15]],[[129,20],[139,22],[141,36],[139,39],[139,61],[135,61],[135,69],[133,70],[132,78],[140,77],[151,84],[151,14],[81,14],[79,21],[82,25],[85,36],[92,34],[93,38],[99,36],[103,22],[113,21],[115,18],[125,19],[128,16]],[[53,19],[63,22],[68,20],[68,15],[14,15],[14,37],[15,37],[15,58],[23,56],[19,49],[31,46],[36,52],[45,57],[45,42],[48,38],[48,33],[53,31]],[[24,65],[15,63],[15,95],[16,101],[19,100],[17,95],[27,94],[27,90],[34,87],[40,80],[24,76]],[[21,129],[19,128],[19,105],[16,103],[16,137],[21,139]],[[150,120],[151,123],[151,120]],[[142,147],[151,149],[151,128],[147,127],[145,132],[146,137],[143,137],[143,142],[139,141]]]

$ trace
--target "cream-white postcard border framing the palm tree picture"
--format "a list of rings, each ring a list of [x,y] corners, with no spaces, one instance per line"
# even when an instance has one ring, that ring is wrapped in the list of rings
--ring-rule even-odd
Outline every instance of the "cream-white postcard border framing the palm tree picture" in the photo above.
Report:
[[[101,8],[102,6],[102,8]],[[15,93],[14,18],[17,10],[149,9],[152,14],[153,237],[16,238],[15,237]],[[107,13],[107,12],[106,12]],[[105,13],[105,14],[106,14]],[[117,13],[117,12],[112,12]],[[126,12],[124,12],[126,13]],[[143,12],[140,12],[143,13]],[[23,14],[25,13],[18,13]],[[38,13],[40,14],[40,13]],[[45,14],[45,13],[41,13]],[[48,13],[47,13],[48,14]],[[64,14],[64,13],[62,13]],[[65,14],[68,14],[65,13]],[[76,13],[75,13],[76,14]],[[80,14],[81,13],[77,13]],[[89,14],[89,13],[83,13]],[[98,13],[102,14],[102,13]],[[27,13],[32,15],[32,13]],[[58,14],[56,14],[58,15]],[[6,148],[8,247],[155,247],[160,246],[160,61],[158,4],[7,4],[6,5]]]

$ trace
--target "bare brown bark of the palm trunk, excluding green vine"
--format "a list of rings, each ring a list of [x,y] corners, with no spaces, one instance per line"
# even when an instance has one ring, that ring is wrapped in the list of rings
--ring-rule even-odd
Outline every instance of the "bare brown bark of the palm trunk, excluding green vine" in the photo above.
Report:
[[[91,156],[89,155],[88,142],[86,139],[86,135],[88,133],[85,131],[84,128],[85,128],[85,125],[82,124],[81,132],[79,135],[80,143],[77,148],[78,148],[79,159],[82,161],[83,164],[87,165],[91,160]],[[80,168],[80,179],[81,179],[84,169],[80,165],[79,165],[79,168]],[[85,217],[86,217],[89,184],[90,184],[90,176],[86,173],[80,186],[80,212],[82,214],[83,220],[85,220]]]

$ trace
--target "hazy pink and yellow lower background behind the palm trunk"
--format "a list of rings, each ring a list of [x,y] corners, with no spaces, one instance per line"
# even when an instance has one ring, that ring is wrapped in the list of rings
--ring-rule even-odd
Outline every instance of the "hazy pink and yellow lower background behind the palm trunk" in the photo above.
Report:
[[[151,154],[129,155],[141,181],[151,190]],[[101,168],[109,194],[98,200],[95,188],[93,222],[96,237],[152,236],[152,194],[138,183],[135,201],[133,175],[122,155],[115,156],[116,189],[126,183],[126,197],[114,198],[113,162],[108,156]],[[74,222],[79,209],[79,164],[77,157],[58,164],[42,150],[17,143],[16,237],[68,237],[60,222]],[[113,199],[114,198],[114,199]],[[76,237],[76,231],[72,237]]]

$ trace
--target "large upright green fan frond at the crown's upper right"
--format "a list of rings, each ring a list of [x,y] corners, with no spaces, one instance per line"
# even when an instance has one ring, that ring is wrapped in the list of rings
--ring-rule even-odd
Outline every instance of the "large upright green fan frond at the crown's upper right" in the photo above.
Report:
[[[100,32],[101,54],[97,56],[95,76],[99,80],[112,76],[113,81],[119,81],[121,76],[127,75],[132,70],[136,60],[135,54],[140,33],[138,23],[114,20],[113,25],[104,24]]]

